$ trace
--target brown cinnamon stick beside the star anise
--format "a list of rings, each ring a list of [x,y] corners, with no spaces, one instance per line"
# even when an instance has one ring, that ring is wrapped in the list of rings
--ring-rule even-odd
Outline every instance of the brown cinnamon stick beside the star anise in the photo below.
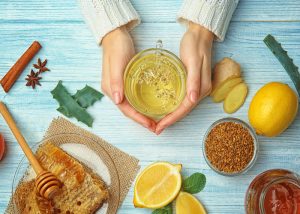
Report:
[[[18,59],[18,61],[10,68],[6,75],[1,79],[1,86],[6,93],[9,92],[28,63],[39,52],[41,48],[41,44],[38,41],[34,41],[25,51],[25,53],[23,53],[23,55]]]

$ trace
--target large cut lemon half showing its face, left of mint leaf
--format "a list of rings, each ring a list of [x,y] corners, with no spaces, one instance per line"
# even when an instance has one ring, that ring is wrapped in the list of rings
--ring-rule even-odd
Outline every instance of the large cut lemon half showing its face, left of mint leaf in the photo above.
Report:
[[[181,188],[181,164],[157,162],[146,167],[134,186],[135,207],[157,209],[171,203]]]

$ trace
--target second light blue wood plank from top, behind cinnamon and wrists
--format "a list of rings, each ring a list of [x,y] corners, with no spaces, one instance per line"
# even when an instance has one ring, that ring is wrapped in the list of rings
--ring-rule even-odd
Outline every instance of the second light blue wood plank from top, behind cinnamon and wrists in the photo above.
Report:
[[[249,76],[249,82],[265,82],[268,80],[287,79],[282,66],[262,42],[272,33],[300,65],[300,30],[298,22],[289,23],[244,23],[233,22],[223,43],[215,43],[214,60],[230,56],[239,61]],[[171,33],[170,33],[171,32]],[[164,47],[178,54],[179,43],[184,29],[176,23],[147,23],[133,31],[137,51],[154,47],[158,39],[162,39]],[[13,37],[12,37],[13,35]],[[172,36],[170,36],[172,35]],[[47,82],[82,80],[97,82],[101,76],[101,49],[83,23],[57,24],[49,23],[40,30],[39,24],[2,24],[0,28],[0,76],[3,76],[22,54],[29,44],[38,39],[44,46],[37,57],[49,60],[51,72],[43,75]],[[36,58],[37,58],[36,57]],[[36,61],[36,58],[33,60]],[[14,94],[24,89],[24,79],[30,66],[11,91]],[[264,77],[264,78],[261,78]],[[283,79],[283,80],[284,80]],[[16,92],[18,93],[18,92]],[[10,95],[8,95],[10,96]]]

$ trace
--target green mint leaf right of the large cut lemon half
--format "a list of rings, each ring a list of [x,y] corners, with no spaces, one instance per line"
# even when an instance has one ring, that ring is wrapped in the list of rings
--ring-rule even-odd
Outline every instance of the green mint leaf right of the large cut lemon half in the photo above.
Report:
[[[206,177],[202,173],[194,173],[190,177],[184,179],[183,190],[185,192],[196,194],[202,191],[206,184]]]

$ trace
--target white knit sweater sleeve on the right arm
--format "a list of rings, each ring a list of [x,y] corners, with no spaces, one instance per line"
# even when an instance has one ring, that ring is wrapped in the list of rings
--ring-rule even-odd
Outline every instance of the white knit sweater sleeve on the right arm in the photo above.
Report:
[[[184,0],[177,20],[202,25],[223,41],[239,0]]]

